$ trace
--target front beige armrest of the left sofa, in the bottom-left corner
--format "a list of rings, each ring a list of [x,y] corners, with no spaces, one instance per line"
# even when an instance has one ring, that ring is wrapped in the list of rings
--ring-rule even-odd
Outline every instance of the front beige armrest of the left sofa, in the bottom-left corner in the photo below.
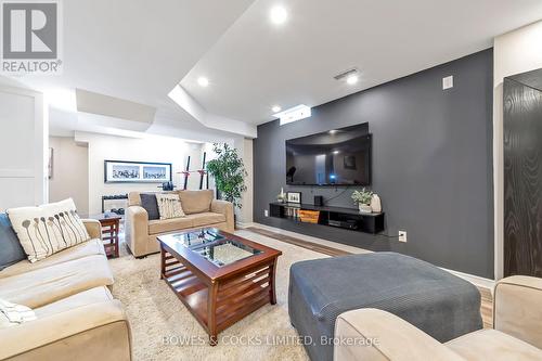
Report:
[[[118,300],[91,304],[0,328],[0,360],[134,360],[130,325]]]

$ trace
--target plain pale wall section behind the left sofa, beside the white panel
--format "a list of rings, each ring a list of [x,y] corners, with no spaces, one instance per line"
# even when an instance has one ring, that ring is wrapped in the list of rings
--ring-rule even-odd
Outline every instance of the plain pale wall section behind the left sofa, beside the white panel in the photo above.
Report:
[[[50,137],[53,177],[49,180],[49,202],[72,197],[79,215],[89,214],[89,149],[73,137]]]

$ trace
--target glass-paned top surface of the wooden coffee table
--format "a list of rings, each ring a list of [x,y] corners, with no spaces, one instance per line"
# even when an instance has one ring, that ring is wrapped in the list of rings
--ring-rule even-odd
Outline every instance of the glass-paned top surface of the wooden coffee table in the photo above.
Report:
[[[215,229],[168,234],[167,236],[160,236],[160,238],[169,238],[167,240],[169,242],[175,241],[218,267],[228,266],[262,253],[260,249],[235,240],[228,240]]]

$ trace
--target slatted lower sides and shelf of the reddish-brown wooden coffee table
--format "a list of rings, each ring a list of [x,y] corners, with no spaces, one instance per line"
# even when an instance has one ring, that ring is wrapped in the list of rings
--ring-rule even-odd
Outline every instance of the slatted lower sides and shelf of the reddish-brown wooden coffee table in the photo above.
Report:
[[[270,272],[271,268],[266,266],[218,285],[217,332],[228,328],[270,301]],[[208,331],[208,286],[178,261],[169,262],[163,276],[177,297]]]

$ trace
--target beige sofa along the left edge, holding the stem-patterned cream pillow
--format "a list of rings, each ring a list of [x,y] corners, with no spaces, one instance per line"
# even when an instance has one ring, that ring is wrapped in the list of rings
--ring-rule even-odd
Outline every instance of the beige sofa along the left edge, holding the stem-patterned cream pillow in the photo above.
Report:
[[[22,324],[0,318],[0,360],[131,360],[130,326],[108,289],[113,274],[100,222],[83,223],[90,241],[0,271],[0,298],[37,315]]]

